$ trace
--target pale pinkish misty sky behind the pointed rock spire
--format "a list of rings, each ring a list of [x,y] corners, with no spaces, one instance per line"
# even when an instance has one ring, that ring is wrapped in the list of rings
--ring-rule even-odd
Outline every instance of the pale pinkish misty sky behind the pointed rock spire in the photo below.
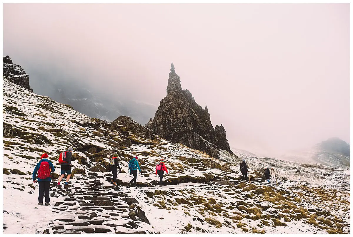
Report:
[[[231,147],[280,154],[333,136],[350,143],[349,4],[3,6],[3,54],[30,83],[29,72],[59,71],[158,105],[173,62]]]

